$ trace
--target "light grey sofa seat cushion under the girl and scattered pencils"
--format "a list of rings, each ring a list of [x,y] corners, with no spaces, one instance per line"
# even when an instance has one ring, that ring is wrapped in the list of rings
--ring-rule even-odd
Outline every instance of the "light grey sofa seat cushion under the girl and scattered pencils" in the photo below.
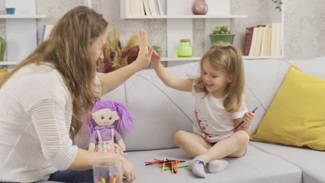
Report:
[[[301,182],[300,168],[253,146],[247,148],[247,154],[242,158],[227,158],[228,168],[221,173],[208,173],[205,180],[195,177],[189,168],[179,168],[175,175],[170,171],[161,173],[158,165],[144,165],[144,162],[164,157],[183,159],[186,161],[183,164],[192,159],[180,148],[128,152],[126,158],[135,166],[135,182]]]

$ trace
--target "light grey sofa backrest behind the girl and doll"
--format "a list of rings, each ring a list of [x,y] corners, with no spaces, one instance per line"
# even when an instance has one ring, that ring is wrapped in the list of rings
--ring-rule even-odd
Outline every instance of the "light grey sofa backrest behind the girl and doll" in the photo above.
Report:
[[[251,132],[255,132],[283,82],[290,64],[312,76],[325,78],[325,58],[313,60],[244,60],[245,94],[249,110],[258,107]],[[178,78],[199,75],[199,62],[167,67]],[[135,117],[131,132],[122,134],[127,150],[174,148],[178,130],[192,132],[194,97],[166,87],[152,70],[139,71],[123,85],[102,99],[121,101]],[[77,139],[81,148],[88,146],[88,136]]]

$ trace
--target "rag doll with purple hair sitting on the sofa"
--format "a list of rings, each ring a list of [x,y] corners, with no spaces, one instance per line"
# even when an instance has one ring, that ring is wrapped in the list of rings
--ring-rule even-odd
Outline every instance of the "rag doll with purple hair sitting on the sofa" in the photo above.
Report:
[[[110,152],[124,155],[125,143],[121,134],[133,128],[133,116],[123,103],[103,100],[95,103],[87,132],[90,133],[90,151]]]

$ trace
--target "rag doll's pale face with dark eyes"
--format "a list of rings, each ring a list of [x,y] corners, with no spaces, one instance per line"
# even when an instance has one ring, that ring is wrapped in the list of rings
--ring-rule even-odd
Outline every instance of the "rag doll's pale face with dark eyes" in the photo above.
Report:
[[[110,109],[98,110],[92,113],[92,119],[100,126],[113,125],[119,119],[116,111]]]

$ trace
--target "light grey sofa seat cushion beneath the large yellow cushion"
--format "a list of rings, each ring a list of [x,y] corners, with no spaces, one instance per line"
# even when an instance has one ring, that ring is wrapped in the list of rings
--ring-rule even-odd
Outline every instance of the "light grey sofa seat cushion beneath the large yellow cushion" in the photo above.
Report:
[[[301,168],[303,182],[325,182],[325,152],[256,141],[251,141],[250,144],[266,153],[281,157]]]

